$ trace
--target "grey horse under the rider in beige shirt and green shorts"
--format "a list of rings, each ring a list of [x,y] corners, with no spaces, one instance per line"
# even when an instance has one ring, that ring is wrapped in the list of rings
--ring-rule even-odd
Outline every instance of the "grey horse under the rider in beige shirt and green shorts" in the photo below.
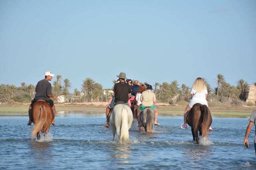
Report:
[[[146,133],[152,133],[154,122],[156,119],[156,114],[154,109],[146,107],[141,113],[142,125],[145,128]]]

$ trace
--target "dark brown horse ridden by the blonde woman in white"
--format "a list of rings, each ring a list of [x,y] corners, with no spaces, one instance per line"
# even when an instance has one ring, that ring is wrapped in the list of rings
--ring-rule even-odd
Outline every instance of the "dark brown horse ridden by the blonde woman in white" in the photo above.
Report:
[[[212,116],[206,105],[195,104],[187,114],[187,123],[191,127],[193,141],[199,144],[199,135],[208,138],[207,130],[212,124]]]

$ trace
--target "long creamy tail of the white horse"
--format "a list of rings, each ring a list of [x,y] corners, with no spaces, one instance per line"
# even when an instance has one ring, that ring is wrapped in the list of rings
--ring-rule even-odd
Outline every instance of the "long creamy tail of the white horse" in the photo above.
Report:
[[[121,130],[118,143],[122,143],[124,139],[125,143],[131,143],[129,140],[129,129],[128,129],[128,112],[127,109],[122,109],[121,115]]]

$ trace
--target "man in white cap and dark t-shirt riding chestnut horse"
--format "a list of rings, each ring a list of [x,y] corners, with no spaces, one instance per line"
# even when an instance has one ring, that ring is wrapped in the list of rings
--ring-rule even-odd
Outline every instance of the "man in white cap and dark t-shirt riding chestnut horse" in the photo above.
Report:
[[[31,125],[32,121],[31,121],[31,117],[32,117],[32,106],[33,104],[39,100],[45,100],[47,103],[49,103],[52,107],[54,116],[55,116],[55,106],[53,104],[53,101],[50,99],[50,97],[56,99],[57,97],[52,95],[52,85],[49,81],[52,80],[52,77],[54,76],[54,74],[52,74],[52,72],[47,71],[44,73],[44,77],[45,79],[40,80],[37,85],[36,85],[36,95],[35,98],[31,101],[31,104],[29,106],[29,110],[28,110],[28,115],[29,115],[29,122],[28,125]],[[55,125],[54,120],[52,121],[52,125]]]

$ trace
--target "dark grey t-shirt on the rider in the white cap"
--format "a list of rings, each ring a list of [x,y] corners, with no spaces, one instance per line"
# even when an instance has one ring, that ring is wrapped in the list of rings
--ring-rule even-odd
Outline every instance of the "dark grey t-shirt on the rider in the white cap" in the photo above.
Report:
[[[48,95],[52,95],[51,83],[45,79],[40,80],[36,85],[35,91],[36,91],[35,100],[39,100],[39,99],[49,100],[50,98],[48,97]]]

